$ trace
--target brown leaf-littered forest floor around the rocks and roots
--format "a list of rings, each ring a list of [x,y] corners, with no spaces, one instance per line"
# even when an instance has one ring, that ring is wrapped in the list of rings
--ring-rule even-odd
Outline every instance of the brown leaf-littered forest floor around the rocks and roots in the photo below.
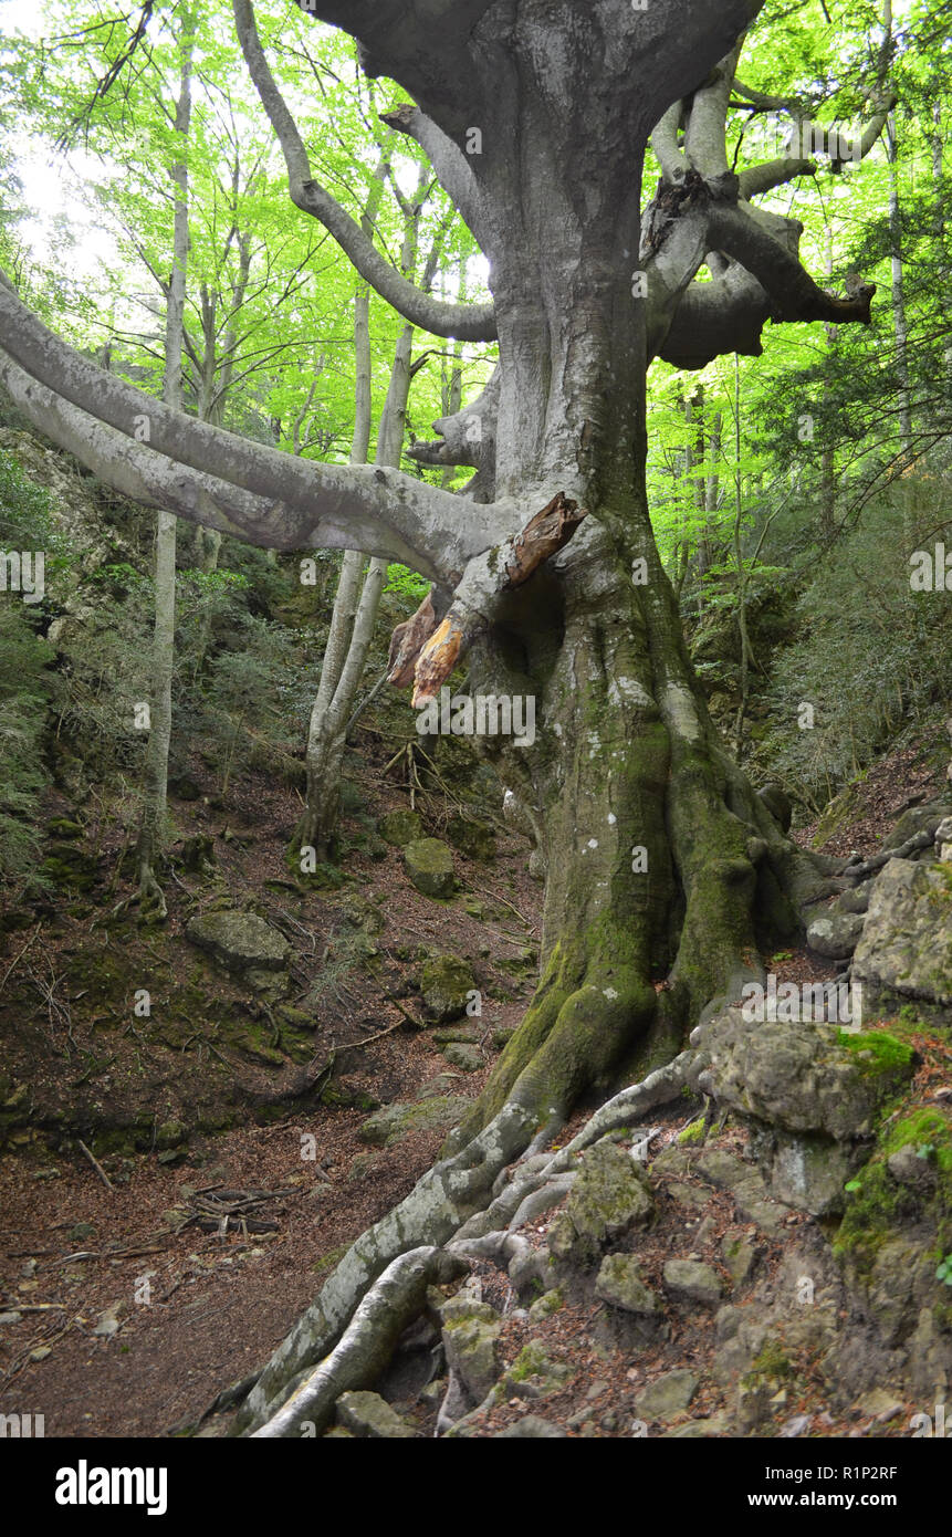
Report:
[[[380,765],[371,767],[368,779],[361,787],[364,816],[406,804],[381,778]],[[927,788],[906,750],[886,756],[863,781],[849,821],[837,827],[827,848],[872,853],[910,796]],[[428,1082],[443,1094],[478,1093],[491,1065],[491,1034],[518,1024],[524,1010],[532,973],[517,981],[512,968],[501,965],[524,958],[526,945],[537,944],[540,933],[541,887],[524,871],[524,842],[503,839],[491,865],[460,858],[463,890],[448,904],[432,902],[409,885],[397,848],[383,858],[380,850],[375,858],[352,850],[346,868],[355,882],[343,898],[340,891],[301,895],[291,888],[281,864],[294,804],[291,792],[258,778],[232,798],[228,819],[203,798],[177,804],[175,816],[183,836],[214,835],[218,887],[223,882],[232,898],[254,899],[272,921],[280,921],[281,913],[291,919],[285,931],[295,934],[295,967],[305,990],[328,970],[341,933],[335,927],[341,899],[357,888],[361,899],[377,904],[383,924],[374,945],[386,988],[381,991],[380,973],[358,965],[335,973],[308,1050],[311,1065],[323,1064],[331,1050],[394,1027],[369,1047],[346,1054],[348,1071],[335,1077],[343,1085],[343,1105],[329,1108],[314,1094],[298,1094],[288,1105],[275,1102],[275,1081],[300,1090],[301,1071],[308,1071],[301,1054],[288,1061],[288,1039],[278,1050],[261,1047],[254,1033],[238,1050],[238,1037],[221,1028],[225,1017],[241,1016],[241,1030],[255,1025],[248,1013],[254,1005],[238,998],[228,979],[212,976],[185,941],[185,916],[195,896],[192,890],[189,898],[194,882],[188,876],[169,882],[171,915],[161,939],[125,915],[118,928],[106,925],[102,939],[112,959],[117,953],[121,958],[123,999],[149,979],[155,996],[165,996],[165,971],[155,971],[149,951],[163,968],[178,968],[180,974],[201,967],[201,1019],[178,1019],[174,1008],[158,1008],[152,1019],[137,1021],[126,1011],[121,1017],[131,1028],[120,1033],[115,998],[106,1005],[105,1021],[98,1005],[83,1008],[82,998],[72,998],[71,1007],[69,981],[57,993],[55,979],[68,979],[71,958],[88,958],[89,947],[100,942],[89,927],[98,910],[85,913],[83,904],[82,916],[57,911],[49,918],[35,950],[31,947],[32,970],[23,967],[18,991],[2,999],[5,1070],[14,1081],[29,1082],[40,1124],[49,1124],[58,1102],[69,1107],[63,1122],[68,1128],[75,1130],[95,1108],[100,1124],[109,1122],[111,1111],[115,1125],[134,1131],[141,1128],[135,1116],[143,1102],[154,1100],[151,1147],[111,1148],[108,1136],[97,1142],[88,1133],[98,1170],[77,1142],[69,1151],[51,1151],[49,1139],[37,1130],[12,1137],[0,1162],[0,1413],[45,1414],[46,1436],[185,1432],[228,1383],[260,1369],[345,1248],[412,1188],[443,1140],[441,1130],[417,1131],[394,1147],[371,1150],[358,1137],[368,1105],[415,1097],[421,1088],[426,1093]],[[803,828],[798,836],[806,842],[812,832]],[[108,867],[118,850],[105,845],[100,855]],[[8,936],[0,976],[29,938]],[[488,996],[483,1070],[448,1071],[431,1033],[414,1030],[386,999],[389,991],[411,1013],[418,1010],[412,964],[397,956],[398,950],[406,956],[408,945],[472,958]],[[797,982],[824,981],[835,970],[804,950],[771,958],[771,967],[780,981]],[[43,978],[54,981],[52,1002],[38,985]],[[203,1051],[203,1045],[209,1050]],[[940,1077],[947,1082],[947,1050],[926,1039],[917,1048],[921,1084]],[[235,1087],[240,1091],[229,1097],[226,1090]],[[348,1108],[348,1096],[366,1097]],[[214,1120],[209,1107],[225,1107],[225,1119],[232,1124],[201,1131],[203,1113]],[[588,1113],[580,1111],[569,1133]],[[678,1136],[695,1114],[697,1107],[684,1104],[657,1116],[654,1162],[666,1150],[680,1153]],[[155,1128],[174,1116],[197,1130],[163,1162]],[[312,1159],[301,1156],[309,1136]],[[743,1156],[744,1142],[746,1133],[727,1122],[707,1137],[706,1148]],[[769,1279],[803,1230],[814,1227],[803,1213],[780,1208],[777,1222],[761,1230],[746,1220],[729,1191],[712,1191],[689,1162],[675,1173],[677,1179],[658,1188],[658,1220],[649,1245],[643,1242],[638,1250],[649,1285],[672,1253],[723,1271],[723,1250],[731,1240],[749,1240],[761,1279]],[[245,1207],[245,1227],[238,1213],[228,1231],[208,1231],[214,1220],[209,1223],[201,1200],[221,1197],[221,1191],[235,1193],[235,1199],[252,1193],[266,1199]],[[544,1216],[535,1217],[526,1236],[532,1239],[544,1227]],[[477,1274],[486,1300],[511,1308],[506,1276],[489,1265],[477,1266]],[[692,1403],[692,1417],[721,1411],[706,1371],[717,1346],[711,1308],[680,1308],[669,1337],[647,1353],[632,1353],[612,1331],[606,1313],[611,1310],[603,1303],[569,1303],[534,1322],[520,1311],[504,1319],[501,1353],[508,1363],[532,1339],[564,1368],[563,1386],[544,1400],[546,1420],[571,1436],[627,1437],[638,1396],[674,1368],[689,1368],[706,1382]],[[791,1434],[903,1434],[901,1416],[910,1406],[897,1403],[886,1414],[881,1403],[867,1403],[858,1405],[852,1417],[835,1417],[823,1382],[811,1377],[809,1362],[801,1366],[800,1397],[784,1409],[798,1425]],[[514,1386],[478,1434],[498,1434],[520,1419],[529,1391]],[[421,1434],[434,1434],[435,1403],[408,1400],[398,1406]]]

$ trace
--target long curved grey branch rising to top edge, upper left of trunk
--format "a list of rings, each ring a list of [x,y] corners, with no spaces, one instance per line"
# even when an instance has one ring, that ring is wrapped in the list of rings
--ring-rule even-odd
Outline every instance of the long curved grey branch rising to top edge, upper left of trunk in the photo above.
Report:
[[[251,0],[234,0],[234,14],[245,61],[285,155],[292,203],[301,212],[317,218],[334,235],[361,278],[412,326],[420,326],[421,330],[429,330],[434,337],[494,341],[497,326],[492,304],[448,304],[423,294],[384,261],[360,224],[312,178],[311,161],[297,123],[288,111],[265,58]]]

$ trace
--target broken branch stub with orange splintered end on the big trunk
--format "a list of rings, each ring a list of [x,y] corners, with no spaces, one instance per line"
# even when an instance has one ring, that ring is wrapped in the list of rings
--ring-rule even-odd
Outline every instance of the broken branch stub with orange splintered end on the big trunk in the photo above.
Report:
[[[564,549],[586,516],[586,510],[560,490],[520,533],[469,563],[449,613],[417,658],[414,707],[438,696],[460,658],[489,629],[503,595],[521,587],[544,561]]]

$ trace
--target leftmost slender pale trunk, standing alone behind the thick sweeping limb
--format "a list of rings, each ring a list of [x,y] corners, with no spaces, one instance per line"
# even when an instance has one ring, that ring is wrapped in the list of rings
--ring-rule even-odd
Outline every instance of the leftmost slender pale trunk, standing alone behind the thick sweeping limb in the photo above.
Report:
[[[188,161],[186,146],[192,112],[192,15],[181,12],[181,63],[175,134],[180,158],[172,166],[175,189],[172,275],[166,306],[165,380],[161,398],[166,406],[181,409],[181,364],[185,338],[185,289],[189,247]],[[155,530],[155,626],[152,632],[152,679],[149,699],[149,741],[145,765],[145,798],[138,842],[135,848],[138,896],[143,915],[163,919],[168,915],[165,893],[155,876],[155,862],[165,836],[169,782],[169,744],[172,739],[172,672],[175,664],[175,527],[171,512],[160,512]]]

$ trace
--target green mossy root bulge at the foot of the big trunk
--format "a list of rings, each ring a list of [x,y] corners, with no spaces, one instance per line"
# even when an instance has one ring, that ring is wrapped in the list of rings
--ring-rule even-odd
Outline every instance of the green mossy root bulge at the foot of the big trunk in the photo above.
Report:
[[[655,1002],[654,988],[631,965],[583,968],[574,947],[560,942],[526,1017],[448,1147],[464,1145],[504,1104],[521,1105],[543,1131],[558,1125],[586,1090],[607,1087],[618,1059],[647,1031]]]

